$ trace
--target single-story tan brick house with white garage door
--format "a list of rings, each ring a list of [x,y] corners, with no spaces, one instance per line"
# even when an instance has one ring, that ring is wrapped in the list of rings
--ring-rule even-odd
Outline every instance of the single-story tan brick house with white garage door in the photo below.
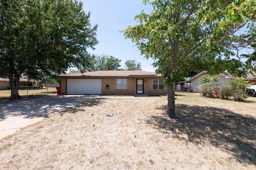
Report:
[[[147,71],[95,71],[59,75],[61,95],[166,95],[161,75]]]

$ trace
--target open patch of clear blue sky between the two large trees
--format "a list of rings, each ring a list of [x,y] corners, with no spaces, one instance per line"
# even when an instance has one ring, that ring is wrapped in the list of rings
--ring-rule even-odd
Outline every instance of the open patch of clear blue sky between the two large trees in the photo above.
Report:
[[[150,5],[142,4],[141,0],[83,0],[85,12],[91,12],[92,24],[98,24],[97,39],[99,44],[95,50],[89,50],[93,54],[107,54],[122,60],[137,60],[142,65],[142,70],[152,71],[151,65],[154,61],[147,60],[130,39],[125,39],[123,33],[119,32],[128,25],[136,25],[134,16],[144,10],[151,11]]]

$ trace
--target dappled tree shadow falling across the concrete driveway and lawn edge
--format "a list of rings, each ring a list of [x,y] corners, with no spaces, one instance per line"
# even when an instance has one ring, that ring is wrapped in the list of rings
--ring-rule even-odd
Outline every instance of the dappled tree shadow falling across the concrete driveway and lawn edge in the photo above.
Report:
[[[12,116],[46,118],[63,110],[76,113],[83,111],[81,106],[100,105],[102,99],[90,96],[49,96],[0,104],[0,123]]]

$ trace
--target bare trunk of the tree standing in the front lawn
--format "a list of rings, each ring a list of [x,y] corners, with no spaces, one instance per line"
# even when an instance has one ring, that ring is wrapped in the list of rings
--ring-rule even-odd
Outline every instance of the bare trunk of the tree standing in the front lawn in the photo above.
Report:
[[[175,90],[173,85],[167,86],[167,94],[168,94],[167,115],[171,118],[175,118]]]

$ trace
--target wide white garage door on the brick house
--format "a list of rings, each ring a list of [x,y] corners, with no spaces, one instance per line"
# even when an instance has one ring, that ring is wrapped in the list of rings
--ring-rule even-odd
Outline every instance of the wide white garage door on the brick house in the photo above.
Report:
[[[101,95],[101,79],[67,79],[68,95]]]

